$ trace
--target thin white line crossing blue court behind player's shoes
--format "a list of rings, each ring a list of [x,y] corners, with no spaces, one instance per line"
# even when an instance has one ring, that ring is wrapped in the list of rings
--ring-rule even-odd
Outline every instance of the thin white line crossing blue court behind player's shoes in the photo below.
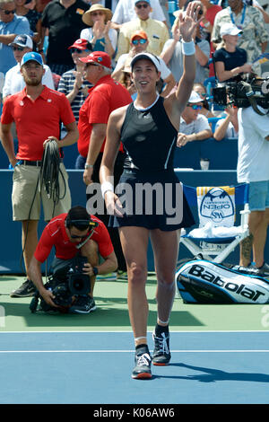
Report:
[[[12,353],[134,353],[134,350],[0,350]],[[269,353],[269,350],[171,350],[171,353]]]

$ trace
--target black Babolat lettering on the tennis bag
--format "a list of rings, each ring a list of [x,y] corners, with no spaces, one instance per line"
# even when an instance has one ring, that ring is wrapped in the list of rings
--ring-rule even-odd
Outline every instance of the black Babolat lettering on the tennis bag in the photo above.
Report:
[[[221,287],[230,292],[230,294],[244,296],[252,302],[256,302],[260,296],[265,296],[260,290],[249,288],[244,283],[235,283],[235,281],[229,281],[224,277],[216,276],[208,268],[204,268],[201,265],[193,265],[188,270],[188,275],[195,277],[195,279],[200,278],[208,283],[212,283],[214,286]]]

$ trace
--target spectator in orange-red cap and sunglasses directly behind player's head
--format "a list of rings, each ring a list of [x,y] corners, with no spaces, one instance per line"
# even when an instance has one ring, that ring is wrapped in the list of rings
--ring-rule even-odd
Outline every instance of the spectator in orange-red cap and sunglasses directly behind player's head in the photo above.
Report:
[[[120,82],[123,69],[125,73],[131,73],[130,63],[132,58],[139,53],[146,51],[149,45],[148,36],[144,31],[135,31],[131,37],[131,49],[129,53],[118,57],[117,66],[112,74],[112,77]],[[158,57],[161,67],[161,84],[158,84],[161,96],[166,97],[176,84],[175,78],[164,63],[161,57]],[[164,84],[164,87],[163,87]],[[162,89],[163,88],[163,89]],[[134,93],[134,92],[133,92]]]

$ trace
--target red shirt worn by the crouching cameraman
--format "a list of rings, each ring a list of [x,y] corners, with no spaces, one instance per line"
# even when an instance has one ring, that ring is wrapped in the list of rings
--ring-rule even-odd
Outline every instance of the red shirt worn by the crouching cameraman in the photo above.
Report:
[[[65,230],[67,213],[57,215],[46,225],[34,253],[39,262],[44,262],[52,250],[56,249],[56,258],[72,259],[78,253],[77,243],[71,242]],[[91,220],[98,223],[93,229],[91,240],[97,242],[101,257],[107,258],[114,251],[108,229],[99,218],[91,215]]]

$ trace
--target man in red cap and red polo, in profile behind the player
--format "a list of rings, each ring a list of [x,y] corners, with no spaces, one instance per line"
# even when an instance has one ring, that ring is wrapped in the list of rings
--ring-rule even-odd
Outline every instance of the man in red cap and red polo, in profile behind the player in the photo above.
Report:
[[[89,56],[82,57],[80,60],[86,65],[85,79],[94,85],[82,105],[78,122],[78,150],[82,156],[80,157],[82,165],[85,167],[83,180],[86,185],[91,185],[93,182],[100,182],[100,163],[106,141],[109,115],[111,111],[132,102],[132,97],[123,85],[110,76],[111,60],[107,53],[93,51]],[[114,167],[115,185],[123,171],[123,163],[124,154],[121,146]],[[87,199],[90,198],[91,195],[88,194]],[[98,215],[98,217],[108,226],[108,215]],[[116,251],[118,269],[126,271],[126,261],[117,229],[109,228],[108,231]]]

